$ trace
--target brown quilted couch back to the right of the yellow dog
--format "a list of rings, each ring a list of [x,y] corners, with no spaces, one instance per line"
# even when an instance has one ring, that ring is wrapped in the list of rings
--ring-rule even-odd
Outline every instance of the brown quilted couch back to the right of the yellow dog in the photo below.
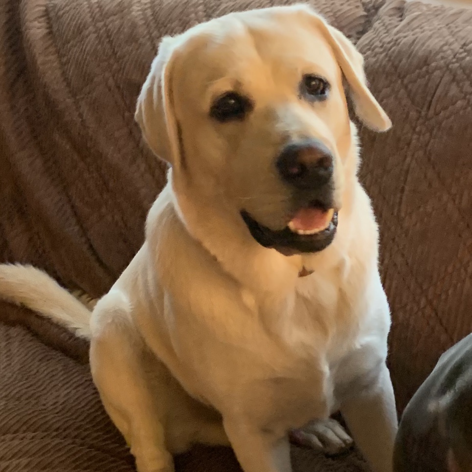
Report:
[[[472,10],[389,1],[359,41],[394,127],[361,131],[402,411],[472,332]]]

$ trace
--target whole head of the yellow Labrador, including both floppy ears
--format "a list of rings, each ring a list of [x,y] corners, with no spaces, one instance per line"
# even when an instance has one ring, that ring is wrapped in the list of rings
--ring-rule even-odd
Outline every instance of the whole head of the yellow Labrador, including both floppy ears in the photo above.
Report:
[[[164,39],[136,119],[180,191],[265,247],[315,252],[356,172],[343,76],[361,119],[387,129],[360,54],[308,7],[232,14]]]

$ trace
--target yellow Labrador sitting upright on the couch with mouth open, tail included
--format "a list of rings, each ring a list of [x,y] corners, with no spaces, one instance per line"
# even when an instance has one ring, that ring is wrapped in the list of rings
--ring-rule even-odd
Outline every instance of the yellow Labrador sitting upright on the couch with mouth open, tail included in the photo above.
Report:
[[[391,472],[397,414],[378,227],[357,177],[359,119],[391,122],[354,45],[307,5],[165,37],[135,118],[168,182],[145,242],[92,312],[45,273],[0,296],[90,338],[93,381],[138,472],[195,443],[290,472],[290,434]]]

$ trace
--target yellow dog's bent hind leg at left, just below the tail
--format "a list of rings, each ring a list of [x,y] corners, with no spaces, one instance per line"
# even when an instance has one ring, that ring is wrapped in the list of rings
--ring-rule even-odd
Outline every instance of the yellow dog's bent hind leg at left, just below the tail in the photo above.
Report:
[[[152,362],[128,322],[129,306],[122,298],[109,294],[97,304],[100,326],[90,343],[93,381],[107,413],[135,456],[137,472],[173,472],[163,427],[165,368],[157,360]]]

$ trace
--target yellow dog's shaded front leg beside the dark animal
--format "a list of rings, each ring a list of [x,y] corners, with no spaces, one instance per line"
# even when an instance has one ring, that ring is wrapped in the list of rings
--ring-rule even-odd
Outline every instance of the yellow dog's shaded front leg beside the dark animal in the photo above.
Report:
[[[369,387],[342,403],[341,413],[373,471],[392,472],[398,419],[390,373],[385,363]]]

